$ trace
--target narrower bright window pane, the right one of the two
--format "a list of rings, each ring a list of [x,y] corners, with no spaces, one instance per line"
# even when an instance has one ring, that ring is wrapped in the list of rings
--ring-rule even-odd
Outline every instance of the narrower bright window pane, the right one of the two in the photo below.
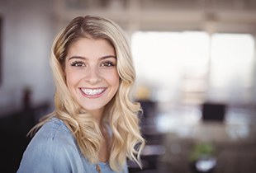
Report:
[[[254,76],[253,36],[215,34],[211,41],[211,98],[249,101]]]

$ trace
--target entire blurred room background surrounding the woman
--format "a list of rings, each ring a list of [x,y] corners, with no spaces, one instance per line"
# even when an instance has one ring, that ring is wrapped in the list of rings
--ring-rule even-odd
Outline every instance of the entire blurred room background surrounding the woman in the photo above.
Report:
[[[26,133],[54,110],[51,44],[85,15],[130,40],[147,140],[130,172],[256,172],[256,1],[0,0],[1,172],[17,171]]]

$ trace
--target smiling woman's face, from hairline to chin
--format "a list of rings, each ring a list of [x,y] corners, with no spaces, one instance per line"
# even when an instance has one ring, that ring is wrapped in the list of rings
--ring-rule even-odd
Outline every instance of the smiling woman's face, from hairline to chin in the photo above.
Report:
[[[92,115],[102,113],[119,87],[115,49],[107,40],[74,42],[65,59],[66,83],[73,98]]]

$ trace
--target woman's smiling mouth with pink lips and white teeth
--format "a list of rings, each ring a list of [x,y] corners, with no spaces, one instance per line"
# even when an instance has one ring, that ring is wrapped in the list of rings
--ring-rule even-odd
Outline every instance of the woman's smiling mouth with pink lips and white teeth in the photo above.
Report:
[[[104,92],[107,90],[107,87],[79,87],[79,90],[82,92],[82,95],[87,98],[98,98],[104,94]]]

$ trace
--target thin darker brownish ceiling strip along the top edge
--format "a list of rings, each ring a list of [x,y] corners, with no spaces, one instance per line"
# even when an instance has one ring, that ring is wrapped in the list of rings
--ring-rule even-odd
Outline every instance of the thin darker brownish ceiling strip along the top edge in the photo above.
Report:
[[[201,9],[256,10],[255,0],[65,0],[73,8],[127,8],[130,4],[141,9]]]

